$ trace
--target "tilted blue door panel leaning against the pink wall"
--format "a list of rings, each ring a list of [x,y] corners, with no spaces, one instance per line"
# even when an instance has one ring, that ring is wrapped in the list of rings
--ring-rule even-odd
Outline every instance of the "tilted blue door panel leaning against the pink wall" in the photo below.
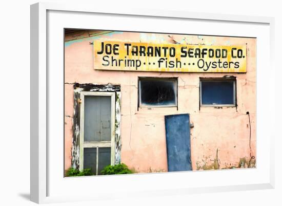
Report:
[[[168,171],[190,171],[189,114],[165,116]]]

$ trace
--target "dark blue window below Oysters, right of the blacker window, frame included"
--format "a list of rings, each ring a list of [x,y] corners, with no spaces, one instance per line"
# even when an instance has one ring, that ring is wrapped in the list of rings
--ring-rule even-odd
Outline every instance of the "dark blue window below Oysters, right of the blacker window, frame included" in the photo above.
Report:
[[[235,79],[201,79],[200,103],[202,106],[235,106]]]

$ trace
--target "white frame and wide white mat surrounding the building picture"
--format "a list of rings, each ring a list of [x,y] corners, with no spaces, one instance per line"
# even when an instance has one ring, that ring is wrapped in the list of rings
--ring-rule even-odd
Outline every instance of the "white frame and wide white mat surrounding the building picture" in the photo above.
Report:
[[[63,75],[63,27],[91,29],[95,26],[90,21],[84,21],[87,15],[93,15],[97,18],[107,19],[110,17],[122,18],[124,26],[120,26],[115,21],[112,30],[140,30],[146,31],[141,23],[142,21],[155,21],[161,25],[163,21],[174,21],[174,28],[167,28],[165,31],[179,29],[179,33],[187,33],[181,27],[184,22],[204,24],[209,22],[211,25],[224,24],[226,28],[246,28],[234,29],[234,31],[221,31],[219,28],[215,31],[208,30],[208,27],[198,28],[197,34],[205,35],[230,35],[231,36],[255,36],[258,38],[257,46],[257,168],[250,170],[232,170],[230,171],[205,171],[205,172],[175,172],[161,174],[142,174],[142,175],[122,175],[109,177],[81,177],[64,178],[61,167],[57,167],[63,161],[61,146],[63,145],[62,131],[58,127],[53,128],[54,123],[62,125],[63,118],[62,107],[54,106],[54,98],[63,98],[63,89],[56,90],[60,85]],[[75,16],[75,20],[74,17]],[[130,20],[134,18],[134,23],[139,28],[130,27]],[[54,23],[56,20],[56,24]],[[181,24],[180,24],[181,23]],[[97,23],[99,22],[97,21]],[[110,24],[110,23],[109,23]],[[128,24],[128,26],[126,25]],[[145,23],[144,23],[145,24]],[[143,25],[143,26],[142,26]],[[250,25],[253,25],[250,28]],[[107,26],[107,25],[106,25]],[[157,27],[157,26],[156,26]],[[217,28],[217,27],[216,27]],[[261,32],[257,32],[260,29]],[[93,29],[93,28],[92,28]],[[96,28],[101,29],[101,28]],[[104,28],[103,28],[104,29]],[[148,31],[152,28],[148,25]],[[156,28],[157,30],[157,28]],[[154,30],[154,31],[156,31]],[[228,30],[228,29],[227,29]],[[252,31],[251,31],[252,30]],[[57,33],[57,39],[54,39],[54,32]],[[225,33],[224,33],[225,32]],[[252,35],[257,33],[257,35]],[[52,43],[51,43],[52,42]],[[56,42],[57,44],[53,44]],[[265,46],[263,50],[262,45]],[[57,46],[59,50],[55,50]],[[54,57],[54,53],[56,58]],[[220,191],[240,191],[240,190],[258,190],[274,188],[274,129],[269,132],[266,127],[273,128],[274,106],[274,18],[260,16],[243,15],[223,15],[211,13],[192,13],[184,11],[164,11],[164,10],[142,10],[142,9],[119,9],[115,8],[97,8],[86,5],[55,4],[55,3],[37,3],[31,5],[31,201],[36,203],[65,202],[65,201],[85,201],[85,200],[103,200],[107,198],[123,198],[131,196],[151,196],[151,195],[174,195],[174,194],[193,194]],[[53,64],[57,66],[54,66]],[[52,67],[52,70],[50,70]],[[49,69],[48,69],[49,68]],[[53,68],[56,68],[53,69]],[[58,68],[58,69],[57,69]],[[265,75],[265,70],[273,75]],[[62,69],[62,70],[61,70]],[[55,73],[57,72],[57,73]],[[60,79],[61,78],[61,79]],[[263,82],[262,82],[263,81]],[[52,84],[51,84],[52,82]],[[262,86],[264,85],[264,87]],[[62,85],[63,86],[63,85]],[[63,87],[62,87],[63,88]],[[54,93],[55,91],[55,93]],[[267,95],[268,98],[265,98]],[[61,99],[58,99],[61,103]],[[54,119],[55,114],[61,114],[58,120]],[[53,118],[53,119],[52,119]],[[267,122],[263,119],[267,118]],[[54,123],[50,122],[54,120]],[[61,121],[61,122],[60,122]],[[58,136],[57,141],[49,139],[54,135]],[[264,137],[264,138],[261,138]],[[61,141],[61,142],[60,142]],[[52,148],[52,154],[49,149]],[[54,162],[53,158],[58,162]],[[63,167],[63,165],[62,165]],[[240,178],[241,177],[241,178]],[[88,184],[95,179],[101,190],[95,191],[95,195],[87,193]],[[217,179],[212,181],[210,179]],[[175,180],[183,181],[175,181]],[[194,179],[195,181],[192,181]],[[221,180],[220,180],[221,179]],[[166,180],[166,181],[164,181]],[[199,181],[202,180],[202,181]],[[209,180],[209,181],[207,181]],[[133,182],[134,181],[134,185]],[[154,181],[154,184],[149,184]],[[187,184],[187,181],[190,181]],[[103,186],[102,182],[111,182],[120,185],[120,191],[126,193],[116,193],[113,190]],[[78,193],[71,194],[68,188],[71,186],[82,188]],[[129,186],[130,189],[129,189]],[[96,187],[98,188],[98,187]],[[105,189],[105,190],[103,190]],[[61,191],[61,192],[59,192]],[[63,191],[63,192],[62,192]],[[106,191],[106,192],[105,192]],[[86,192],[86,193],[84,193]]]

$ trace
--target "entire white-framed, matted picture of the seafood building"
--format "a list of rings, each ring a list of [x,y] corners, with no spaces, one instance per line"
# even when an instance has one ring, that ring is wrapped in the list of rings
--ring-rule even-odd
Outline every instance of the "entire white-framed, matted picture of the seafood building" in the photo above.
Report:
[[[273,188],[273,30],[270,17],[32,5],[31,200]]]

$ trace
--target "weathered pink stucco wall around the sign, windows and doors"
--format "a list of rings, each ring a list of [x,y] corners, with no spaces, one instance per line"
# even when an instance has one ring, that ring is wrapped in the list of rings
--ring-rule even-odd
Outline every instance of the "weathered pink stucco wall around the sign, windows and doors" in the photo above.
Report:
[[[252,155],[256,156],[256,40],[219,36],[170,35],[113,32],[87,37],[89,33],[66,35],[65,42],[65,169],[71,166],[73,85],[70,83],[120,84],[122,92],[122,162],[137,172],[165,172],[167,167],[164,116],[190,114],[191,161],[193,170],[248,166],[251,119]],[[85,37],[85,38],[82,38]],[[71,40],[71,39],[77,40]],[[82,39],[80,39],[82,38]],[[109,41],[206,45],[246,45],[247,73],[180,73],[95,70],[93,45]],[[236,107],[202,107],[199,110],[199,77],[237,78]],[[175,107],[139,108],[138,77],[178,77],[178,110]],[[255,159],[251,161],[255,166]]]

